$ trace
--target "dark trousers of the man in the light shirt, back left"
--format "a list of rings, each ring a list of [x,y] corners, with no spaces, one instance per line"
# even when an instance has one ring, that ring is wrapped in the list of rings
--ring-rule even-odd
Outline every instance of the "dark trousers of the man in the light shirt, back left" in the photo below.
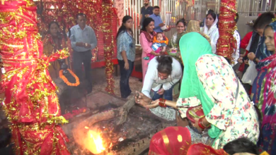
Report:
[[[79,81],[83,82],[84,78],[82,77],[82,63],[84,63],[85,78],[88,82],[86,89],[91,92],[92,90],[92,77],[91,77],[91,50],[88,51],[74,51],[73,52],[73,65],[74,72],[79,77]]]

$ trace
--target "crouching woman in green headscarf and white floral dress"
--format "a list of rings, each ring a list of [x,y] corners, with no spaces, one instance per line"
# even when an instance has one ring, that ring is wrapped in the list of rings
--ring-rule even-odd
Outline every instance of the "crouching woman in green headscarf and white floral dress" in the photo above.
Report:
[[[178,109],[182,118],[186,117],[188,108],[202,105],[205,113],[202,122],[195,119],[195,123],[187,127],[192,144],[203,143],[222,149],[226,143],[240,137],[257,142],[258,114],[231,65],[224,57],[212,54],[207,39],[197,32],[183,35],[180,51],[185,70],[178,101],[162,103],[159,99],[146,104],[140,94],[138,103],[149,109],[163,104],[171,106]],[[206,130],[209,125],[211,128]],[[202,127],[207,132],[200,134]]]

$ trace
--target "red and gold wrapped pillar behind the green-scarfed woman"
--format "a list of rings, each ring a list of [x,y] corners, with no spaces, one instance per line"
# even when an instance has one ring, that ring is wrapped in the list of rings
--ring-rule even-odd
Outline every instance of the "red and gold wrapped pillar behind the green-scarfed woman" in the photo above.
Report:
[[[219,8],[219,39],[217,55],[232,59],[237,48],[234,31],[236,30],[236,0],[222,0]]]

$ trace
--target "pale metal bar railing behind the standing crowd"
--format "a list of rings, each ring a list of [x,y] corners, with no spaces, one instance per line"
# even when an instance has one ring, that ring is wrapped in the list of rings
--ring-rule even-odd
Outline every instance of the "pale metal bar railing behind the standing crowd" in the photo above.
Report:
[[[240,16],[258,16],[259,13],[270,11],[276,13],[275,0],[236,0],[237,11]],[[151,0],[151,6],[159,6],[161,18],[166,25],[171,27],[169,32],[165,32],[168,39],[176,32],[176,23],[180,18],[189,20],[203,20],[209,9],[219,13],[220,0],[195,0],[192,6],[187,0]],[[141,8],[144,6],[143,0],[124,0],[125,15],[132,16],[134,25],[132,30],[136,44],[139,45],[140,30],[138,25]],[[141,24],[142,25],[142,24]]]

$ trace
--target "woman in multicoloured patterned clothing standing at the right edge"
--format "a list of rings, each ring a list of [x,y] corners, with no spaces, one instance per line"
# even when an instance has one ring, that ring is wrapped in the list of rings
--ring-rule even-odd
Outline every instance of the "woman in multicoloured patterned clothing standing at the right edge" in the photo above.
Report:
[[[255,104],[263,113],[261,126],[261,136],[258,142],[261,151],[268,151],[269,154],[276,154],[276,22],[265,27],[265,48],[263,52],[271,53],[271,56],[261,60],[257,67],[258,76],[256,77],[257,92],[260,98],[255,98]]]

